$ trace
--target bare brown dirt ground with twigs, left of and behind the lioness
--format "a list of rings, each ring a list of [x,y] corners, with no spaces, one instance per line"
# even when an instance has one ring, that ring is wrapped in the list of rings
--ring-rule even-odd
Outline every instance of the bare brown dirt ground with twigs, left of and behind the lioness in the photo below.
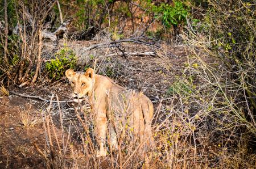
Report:
[[[97,42],[74,41],[69,42],[68,45],[71,48],[75,47],[78,56],[82,56],[79,53],[80,49],[93,43]],[[62,48],[62,45],[63,43],[60,43],[52,47],[51,52]],[[126,52],[152,52],[152,48],[144,45],[131,43],[122,45]],[[118,70],[112,73],[114,81],[129,89],[139,88],[152,100],[156,109],[159,99],[166,98],[166,91],[175,77],[181,75],[184,62],[187,60],[185,48],[182,45],[168,47],[164,45],[163,47],[176,57],[168,56],[168,54],[158,50],[156,51],[158,56],[127,56],[127,59],[122,56],[113,56],[109,62],[102,62],[103,66],[100,67],[104,67],[106,64],[109,65],[110,69],[116,68],[117,66],[114,65],[116,62]],[[98,72],[104,73],[104,70],[98,69]],[[71,92],[65,78],[49,86],[41,83],[27,88],[15,87],[8,88],[8,90],[18,94],[41,96],[44,99],[50,99],[52,94],[56,94],[59,96],[59,100],[68,100]],[[54,99],[56,100],[56,98]],[[165,103],[168,104],[167,101]],[[44,151],[49,146],[44,127],[46,124],[43,121],[43,113],[47,112],[49,103],[10,94],[9,96],[0,96],[0,105],[0,168],[45,168],[44,158],[36,147]],[[56,135],[61,137],[57,107],[57,104],[53,104],[52,109],[56,111],[51,112],[53,123],[56,125],[53,126]],[[75,112],[69,110],[72,108],[71,103],[61,103],[60,108],[63,112],[63,125],[71,130],[75,150],[79,153],[81,139],[76,133],[75,126],[70,124],[73,122],[73,124],[77,124],[78,128],[81,127],[81,124],[77,121]],[[68,137],[66,135],[64,137]]]

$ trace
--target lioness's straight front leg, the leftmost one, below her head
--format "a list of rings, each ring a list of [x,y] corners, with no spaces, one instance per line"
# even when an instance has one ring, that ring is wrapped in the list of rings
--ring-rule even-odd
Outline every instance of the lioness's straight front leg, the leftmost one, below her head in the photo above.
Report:
[[[96,118],[96,130],[97,130],[97,141],[100,146],[100,150],[97,150],[96,157],[106,156],[106,128],[107,118],[106,113],[99,112]]]

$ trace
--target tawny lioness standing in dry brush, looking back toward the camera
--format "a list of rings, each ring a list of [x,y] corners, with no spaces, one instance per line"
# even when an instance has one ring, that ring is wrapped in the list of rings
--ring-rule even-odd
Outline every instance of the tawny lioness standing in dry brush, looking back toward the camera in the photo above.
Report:
[[[76,73],[69,69],[65,75],[71,82],[72,97],[75,101],[88,95],[89,102],[93,104],[96,113],[96,136],[100,146],[96,157],[106,156],[107,124],[117,119],[129,119],[129,126],[133,128],[135,141],[139,140],[140,143],[147,141],[148,145],[154,146],[151,133],[154,108],[151,100],[142,92],[127,91],[114,83],[112,79],[94,74],[92,68],[89,68],[85,73]],[[110,146],[117,148],[117,128],[114,129],[113,125],[109,126]],[[119,126],[120,128],[122,125]]]

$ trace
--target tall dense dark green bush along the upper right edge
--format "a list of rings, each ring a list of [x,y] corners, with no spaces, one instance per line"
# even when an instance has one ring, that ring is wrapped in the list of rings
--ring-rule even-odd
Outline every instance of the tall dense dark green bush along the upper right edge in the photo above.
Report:
[[[234,82],[235,90],[242,91],[241,97],[249,104],[247,111],[255,112],[255,1],[226,2],[209,3],[212,10],[208,10],[205,24],[209,30],[207,33],[210,33],[212,52],[232,74],[230,79]]]

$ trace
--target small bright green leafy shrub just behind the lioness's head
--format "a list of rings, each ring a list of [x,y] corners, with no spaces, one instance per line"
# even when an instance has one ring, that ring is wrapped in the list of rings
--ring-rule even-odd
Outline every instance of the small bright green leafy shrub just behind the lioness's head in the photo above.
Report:
[[[64,47],[55,53],[55,59],[46,63],[46,71],[50,79],[59,80],[67,69],[75,69],[77,57],[72,49]]]

